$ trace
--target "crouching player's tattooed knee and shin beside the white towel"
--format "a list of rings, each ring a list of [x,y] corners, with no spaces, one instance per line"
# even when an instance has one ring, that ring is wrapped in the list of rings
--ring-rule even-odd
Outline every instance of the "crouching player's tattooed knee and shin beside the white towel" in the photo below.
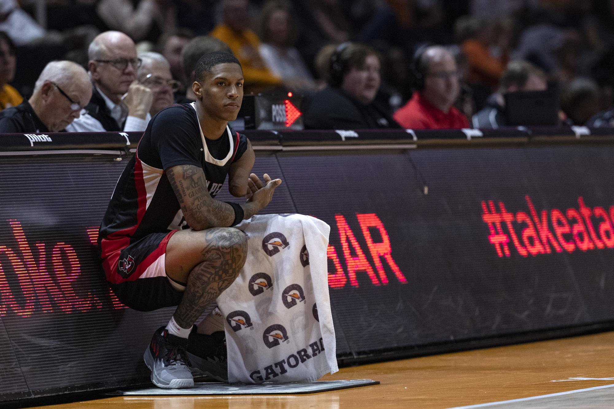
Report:
[[[239,274],[247,256],[245,234],[231,227],[203,231],[203,262],[188,275],[184,297],[174,313],[177,324],[190,328]]]

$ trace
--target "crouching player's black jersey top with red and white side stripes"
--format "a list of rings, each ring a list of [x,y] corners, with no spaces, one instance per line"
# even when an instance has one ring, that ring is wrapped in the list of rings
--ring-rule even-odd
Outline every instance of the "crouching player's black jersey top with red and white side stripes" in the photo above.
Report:
[[[115,186],[99,242],[119,239],[127,245],[153,232],[188,228],[164,170],[184,164],[201,167],[209,194],[215,197],[230,165],[246,149],[246,136],[228,126],[219,139],[206,139],[194,103],[161,110],[149,121],[136,155]]]

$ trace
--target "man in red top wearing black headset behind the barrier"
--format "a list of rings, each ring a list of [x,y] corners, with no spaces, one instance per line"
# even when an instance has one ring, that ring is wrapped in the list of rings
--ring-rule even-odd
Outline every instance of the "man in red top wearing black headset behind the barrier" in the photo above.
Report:
[[[406,129],[470,128],[467,118],[453,106],[461,92],[454,56],[433,45],[419,49],[413,65],[416,91],[394,113],[394,120]]]

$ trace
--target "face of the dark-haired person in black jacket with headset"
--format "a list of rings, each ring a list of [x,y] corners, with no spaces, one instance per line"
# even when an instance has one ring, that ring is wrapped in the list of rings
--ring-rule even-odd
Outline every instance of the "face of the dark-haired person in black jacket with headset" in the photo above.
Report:
[[[362,67],[352,67],[343,77],[341,88],[363,104],[370,104],[379,90],[379,71],[379,58],[368,55]]]

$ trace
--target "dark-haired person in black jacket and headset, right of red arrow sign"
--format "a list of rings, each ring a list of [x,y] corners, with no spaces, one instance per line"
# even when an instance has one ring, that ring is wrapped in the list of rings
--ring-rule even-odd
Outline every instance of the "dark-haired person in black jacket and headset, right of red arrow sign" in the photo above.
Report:
[[[306,129],[400,128],[375,102],[379,57],[366,45],[345,42],[330,58],[329,86],[305,105]]]

